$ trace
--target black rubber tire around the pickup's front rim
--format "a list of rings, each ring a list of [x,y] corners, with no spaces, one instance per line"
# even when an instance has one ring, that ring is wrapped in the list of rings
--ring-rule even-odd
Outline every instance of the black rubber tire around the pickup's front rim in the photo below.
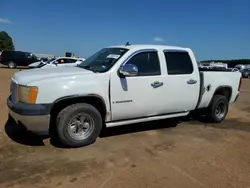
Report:
[[[88,117],[93,123],[93,126],[91,128],[92,131],[91,133],[89,133],[89,136],[82,139],[80,138],[78,139],[76,133],[72,133],[72,131],[69,130],[70,127],[74,126],[78,127],[78,125],[74,123],[73,123],[74,126],[70,126],[70,122],[78,114]],[[94,106],[86,103],[73,104],[63,109],[56,118],[57,137],[64,145],[69,147],[87,146],[89,144],[94,143],[97,137],[99,136],[102,129],[102,123],[103,123],[102,116]],[[83,124],[84,123],[82,123],[81,125],[83,126]],[[90,123],[89,127],[91,127]],[[77,132],[77,129],[84,129],[84,128],[75,128],[75,129],[76,129],[75,131]]]

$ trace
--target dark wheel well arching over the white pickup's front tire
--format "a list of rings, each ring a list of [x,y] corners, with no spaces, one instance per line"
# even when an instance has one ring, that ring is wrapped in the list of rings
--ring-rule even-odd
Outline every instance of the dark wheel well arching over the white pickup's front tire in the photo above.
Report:
[[[99,97],[95,97],[95,96],[74,97],[74,98],[66,98],[66,99],[60,100],[53,105],[51,112],[50,112],[50,115],[51,115],[50,125],[55,124],[56,117],[62,109],[72,104],[76,104],[76,103],[88,103],[88,104],[93,105],[100,112],[103,120],[105,120],[107,111],[106,111],[106,105],[103,99]]]

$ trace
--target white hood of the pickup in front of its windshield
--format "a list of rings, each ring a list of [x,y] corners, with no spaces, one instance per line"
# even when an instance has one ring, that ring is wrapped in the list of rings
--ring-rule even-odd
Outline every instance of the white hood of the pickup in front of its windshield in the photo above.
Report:
[[[46,69],[31,69],[16,72],[12,76],[12,80],[21,85],[27,85],[30,82],[51,79],[57,77],[73,77],[77,75],[96,74],[92,71],[79,67],[57,67]]]

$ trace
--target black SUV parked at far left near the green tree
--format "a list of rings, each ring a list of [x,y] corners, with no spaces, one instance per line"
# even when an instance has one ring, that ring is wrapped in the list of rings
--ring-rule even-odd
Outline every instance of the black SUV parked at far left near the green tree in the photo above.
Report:
[[[38,58],[30,52],[3,51],[0,55],[0,63],[9,68],[28,66],[36,61],[38,61]]]

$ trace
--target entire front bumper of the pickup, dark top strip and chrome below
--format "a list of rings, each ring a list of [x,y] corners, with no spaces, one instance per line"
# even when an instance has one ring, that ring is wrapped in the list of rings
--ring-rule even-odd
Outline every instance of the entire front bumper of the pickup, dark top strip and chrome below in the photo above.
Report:
[[[38,135],[49,134],[51,105],[14,103],[10,97],[7,104],[9,114],[16,123],[21,123],[28,131]]]

